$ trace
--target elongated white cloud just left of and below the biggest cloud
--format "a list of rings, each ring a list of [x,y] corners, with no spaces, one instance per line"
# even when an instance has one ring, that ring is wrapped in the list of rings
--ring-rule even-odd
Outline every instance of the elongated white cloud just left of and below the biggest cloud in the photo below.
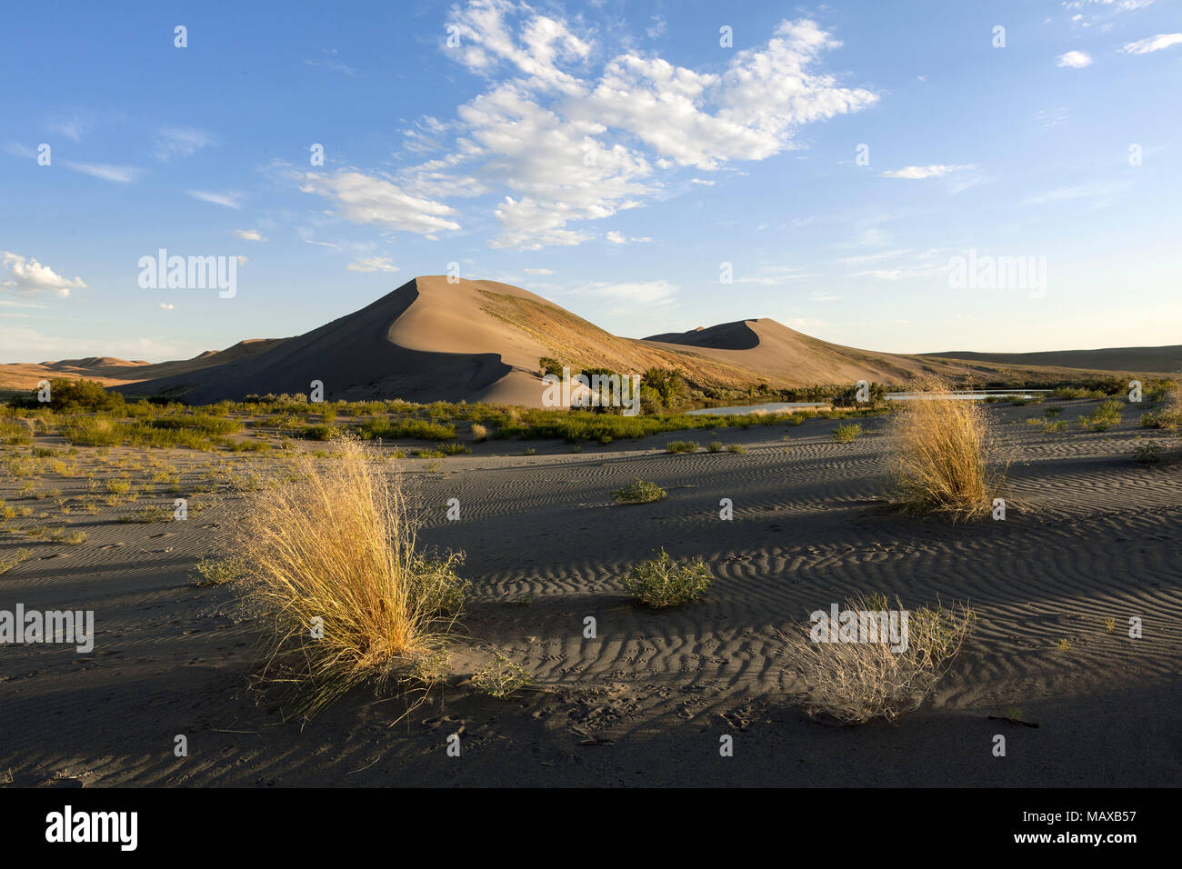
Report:
[[[435,233],[459,229],[460,225],[447,220],[455,214],[442,202],[420,199],[405,193],[401,187],[359,171],[339,171],[336,175],[305,173],[304,193],[332,200],[340,216],[353,223],[378,223],[388,229],[413,232],[428,238]]]

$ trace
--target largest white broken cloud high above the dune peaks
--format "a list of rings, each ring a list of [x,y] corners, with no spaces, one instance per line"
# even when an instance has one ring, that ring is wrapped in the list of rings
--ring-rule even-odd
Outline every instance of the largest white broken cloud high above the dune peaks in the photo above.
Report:
[[[807,123],[858,111],[877,96],[818,70],[840,45],[814,22],[781,21],[768,41],[699,72],[630,50],[596,71],[592,35],[512,0],[474,0],[447,20],[446,48],[485,91],[455,122],[405,130],[408,149],[452,140],[442,156],[400,173],[396,188],[424,200],[500,194],[492,247],[578,245],[583,221],[664,195],[687,168],[765,160],[792,149]]]

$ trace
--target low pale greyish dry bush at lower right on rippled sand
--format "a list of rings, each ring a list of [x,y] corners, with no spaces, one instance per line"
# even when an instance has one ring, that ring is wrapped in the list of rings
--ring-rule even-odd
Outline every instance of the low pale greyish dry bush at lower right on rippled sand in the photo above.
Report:
[[[896,605],[902,611],[897,599]],[[882,612],[885,597],[858,597],[846,609]],[[813,642],[808,623],[804,636],[790,637],[788,668],[804,680],[805,712],[825,722],[857,725],[894,721],[917,709],[948,672],[976,616],[966,605],[924,607],[908,615],[907,648],[901,651],[882,635],[869,642]]]

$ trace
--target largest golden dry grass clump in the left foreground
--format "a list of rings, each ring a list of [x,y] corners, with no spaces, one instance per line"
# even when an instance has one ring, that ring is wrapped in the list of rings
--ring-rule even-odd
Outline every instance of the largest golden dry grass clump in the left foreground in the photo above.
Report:
[[[248,501],[242,558],[254,597],[274,614],[267,673],[299,689],[312,715],[352,687],[411,679],[437,655],[462,602],[452,570],[416,550],[397,476],[375,448],[332,442],[327,460],[305,458],[299,473]]]

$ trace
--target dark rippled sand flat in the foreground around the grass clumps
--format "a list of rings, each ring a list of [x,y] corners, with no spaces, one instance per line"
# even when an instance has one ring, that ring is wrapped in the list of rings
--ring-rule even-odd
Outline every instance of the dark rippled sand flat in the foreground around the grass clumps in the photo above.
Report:
[[[1066,407],[1072,419],[1095,402]],[[882,420],[846,445],[819,420],[720,430],[748,446],[742,455],[669,455],[667,435],[579,454],[534,442],[533,456],[495,442],[437,472],[401,462],[423,541],[468,555],[475,586],[453,681],[496,650],[544,690],[504,702],[461,685],[392,728],[398,701],[366,689],[300,728],[282,724],[273,693],[249,688],[261,625],[241,589],[187,578],[236,527],[227,474],[199,467],[186,486],[203,475],[219,491],[188,523],[119,525],[104,511],[71,517],[91,534],[83,546],[21,544],[38,557],[0,577],[0,607],[92,608],[99,635],[89,656],[4,649],[0,771],[85,785],[1176,786],[1182,476],[1131,461],[1138,439],[1161,436],[1135,414],[1109,433],[1047,434],[1022,424],[1037,413],[991,408],[1014,421],[1001,430],[1020,450],[1011,510],[961,526],[883,511]],[[637,476],[668,500],[611,505],[609,492]],[[19,504],[15,485],[0,495]],[[444,520],[453,497],[461,521]],[[733,521],[717,518],[721,498],[734,500]],[[701,603],[630,603],[623,577],[655,546],[708,562],[716,583]],[[800,712],[781,634],[857,591],[910,607],[969,601],[980,622],[923,709],[830,728]],[[583,637],[589,615],[595,640]],[[1132,615],[1142,640],[1124,634]],[[1039,727],[987,718],[1009,707]],[[448,758],[446,737],[461,728],[463,754]],[[173,755],[178,733],[188,758]],[[1005,759],[991,754],[996,733]],[[719,757],[722,734],[735,738],[733,758]]]

